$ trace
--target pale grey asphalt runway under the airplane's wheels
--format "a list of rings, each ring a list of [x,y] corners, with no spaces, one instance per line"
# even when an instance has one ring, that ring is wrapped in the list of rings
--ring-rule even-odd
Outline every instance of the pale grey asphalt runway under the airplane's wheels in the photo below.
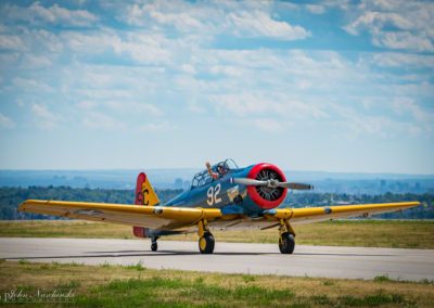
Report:
[[[136,265],[226,273],[302,275],[344,279],[434,280],[434,249],[332,247],[296,245],[282,255],[277,244],[216,243],[213,255],[201,255],[197,242],[146,240],[0,239],[0,258],[38,262]]]

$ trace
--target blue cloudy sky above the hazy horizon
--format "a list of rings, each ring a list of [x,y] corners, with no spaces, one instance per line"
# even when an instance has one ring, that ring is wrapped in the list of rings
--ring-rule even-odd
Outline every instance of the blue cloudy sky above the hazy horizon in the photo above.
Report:
[[[1,1],[0,169],[434,174],[434,2]]]

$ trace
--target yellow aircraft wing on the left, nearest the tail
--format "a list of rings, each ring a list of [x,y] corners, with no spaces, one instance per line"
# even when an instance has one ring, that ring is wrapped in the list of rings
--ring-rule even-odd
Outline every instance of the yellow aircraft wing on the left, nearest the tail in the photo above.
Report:
[[[85,203],[27,200],[18,210],[65,218],[138,226],[161,230],[177,230],[195,226],[201,219],[221,216],[218,208],[143,206],[129,204]]]

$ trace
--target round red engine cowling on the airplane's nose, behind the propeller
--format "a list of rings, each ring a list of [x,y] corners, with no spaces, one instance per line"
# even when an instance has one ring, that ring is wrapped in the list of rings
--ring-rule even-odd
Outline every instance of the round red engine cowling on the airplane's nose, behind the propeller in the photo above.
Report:
[[[254,166],[247,175],[247,178],[267,181],[278,180],[285,182],[286,179],[283,172],[271,164],[258,164]],[[251,200],[258,206],[270,209],[278,207],[286,196],[286,189],[284,188],[268,188],[268,187],[254,187],[247,185],[247,193]]]

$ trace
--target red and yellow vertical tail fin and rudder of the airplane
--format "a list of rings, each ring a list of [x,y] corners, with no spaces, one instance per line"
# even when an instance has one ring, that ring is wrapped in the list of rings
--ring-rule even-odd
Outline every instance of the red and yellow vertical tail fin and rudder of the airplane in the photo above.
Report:
[[[159,200],[154,189],[149,182],[146,175],[141,172],[137,177],[136,205],[153,206],[157,204],[159,204]],[[138,238],[146,238],[145,228],[143,227],[132,227],[132,233]]]

